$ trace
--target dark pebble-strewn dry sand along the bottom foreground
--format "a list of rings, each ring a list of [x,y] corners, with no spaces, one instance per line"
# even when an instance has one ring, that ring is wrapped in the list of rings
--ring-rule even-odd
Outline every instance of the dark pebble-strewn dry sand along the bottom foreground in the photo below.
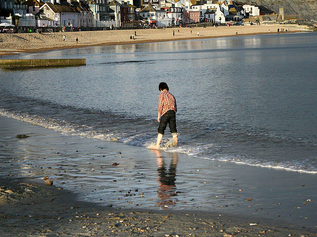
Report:
[[[78,201],[77,194],[0,176],[0,234],[14,236],[316,236],[284,223],[196,211],[139,210]]]

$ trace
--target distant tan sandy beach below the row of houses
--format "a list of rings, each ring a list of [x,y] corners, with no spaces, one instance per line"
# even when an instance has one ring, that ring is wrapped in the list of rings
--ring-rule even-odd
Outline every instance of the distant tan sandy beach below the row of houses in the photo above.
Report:
[[[130,39],[130,36],[134,35],[134,30],[60,32],[45,34],[0,34],[0,55],[75,47],[207,39],[236,35],[274,34],[277,33],[277,29],[281,30],[282,28],[284,28],[284,30],[290,30],[290,32],[304,30],[297,25],[244,25],[206,28],[140,29],[136,30],[137,36],[135,36],[134,39]],[[175,32],[175,36],[173,36],[173,31]],[[284,33],[290,32],[284,31]],[[65,41],[63,41],[64,35],[66,37]],[[76,38],[78,38],[78,44]]]

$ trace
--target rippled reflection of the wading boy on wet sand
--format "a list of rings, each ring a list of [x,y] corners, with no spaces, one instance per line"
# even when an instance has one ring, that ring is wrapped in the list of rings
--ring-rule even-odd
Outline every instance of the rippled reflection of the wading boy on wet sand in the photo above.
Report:
[[[161,156],[158,150],[155,150],[158,159],[158,181],[159,181],[159,188],[158,188],[158,196],[159,202],[158,205],[161,208],[167,208],[168,206],[174,205],[176,201],[176,166],[178,160],[178,154],[172,153],[171,154],[171,161],[169,164],[168,170],[165,168],[165,161],[164,158]],[[166,158],[165,158],[166,159]]]

